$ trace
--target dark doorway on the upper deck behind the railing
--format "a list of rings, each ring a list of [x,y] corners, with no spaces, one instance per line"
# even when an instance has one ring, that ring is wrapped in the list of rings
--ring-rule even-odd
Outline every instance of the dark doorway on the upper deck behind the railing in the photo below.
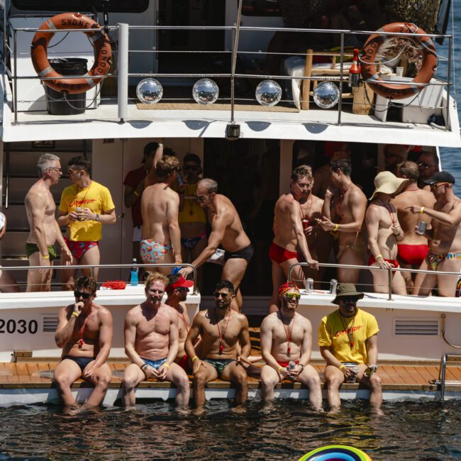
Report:
[[[159,1],[161,26],[224,26],[225,18],[224,1]],[[158,57],[159,72],[177,73],[180,68],[191,74],[204,73],[211,67],[214,53],[224,49],[224,30],[160,30],[158,45],[162,50]]]

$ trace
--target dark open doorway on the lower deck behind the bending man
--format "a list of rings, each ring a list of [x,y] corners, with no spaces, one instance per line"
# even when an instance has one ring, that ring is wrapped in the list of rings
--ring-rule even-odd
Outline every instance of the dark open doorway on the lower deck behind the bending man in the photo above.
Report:
[[[279,140],[204,140],[204,177],[216,179],[218,194],[232,201],[255,247],[241,285],[244,296],[272,293],[268,253],[279,196],[279,149]],[[204,265],[204,294],[213,292],[220,278],[221,266]]]

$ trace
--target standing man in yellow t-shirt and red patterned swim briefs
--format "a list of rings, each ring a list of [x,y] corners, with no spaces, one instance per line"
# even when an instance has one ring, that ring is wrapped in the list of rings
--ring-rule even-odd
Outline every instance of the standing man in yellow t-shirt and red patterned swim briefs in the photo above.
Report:
[[[72,266],[62,270],[62,289],[72,290],[77,272],[76,265],[99,265],[99,240],[103,224],[115,224],[116,214],[111,193],[107,187],[92,181],[89,176],[91,163],[85,157],[73,157],[68,163],[72,186],[62,191],[57,222],[67,226],[66,243],[72,252]],[[97,280],[98,268],[87,277]]]

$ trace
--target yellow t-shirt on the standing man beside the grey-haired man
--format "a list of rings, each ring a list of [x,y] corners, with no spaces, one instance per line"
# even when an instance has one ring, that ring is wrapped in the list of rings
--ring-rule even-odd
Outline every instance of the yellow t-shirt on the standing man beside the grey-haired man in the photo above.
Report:
[[[79,208],[89,208],[93,213],[104,214],[115,209],[111,192],[99,182],[91,181],[89,187],[78,189],[76,184],[62,191],[60,211],[69,214]],[[70,240],[95,242],[101,240],[102,224],[99,221],[71,221]]]

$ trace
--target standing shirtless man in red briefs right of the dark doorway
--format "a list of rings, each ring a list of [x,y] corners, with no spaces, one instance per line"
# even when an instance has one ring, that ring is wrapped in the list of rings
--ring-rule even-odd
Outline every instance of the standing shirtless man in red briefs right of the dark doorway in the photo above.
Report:
[[[312,176],[309,179],[311,169],[301,165],[291,172],[290,191],[283,194],[277,200],[274,209],[274,240],[269,250],[272,260],[272,299],[270,300],[269,312],[277,312],[279,309],[279,286],[287,282],[289,268],[299,262],[299,248],[304,261],[308,262],[314,270],[318,269],[318,262],[313,259],[309,252],[306,235],[304,235],[301,209],[301,201],[305,201],[308,191],[311,189]],[[299,286],[304,286],[304,272],[297,266],[291,272],[293,279]]]

